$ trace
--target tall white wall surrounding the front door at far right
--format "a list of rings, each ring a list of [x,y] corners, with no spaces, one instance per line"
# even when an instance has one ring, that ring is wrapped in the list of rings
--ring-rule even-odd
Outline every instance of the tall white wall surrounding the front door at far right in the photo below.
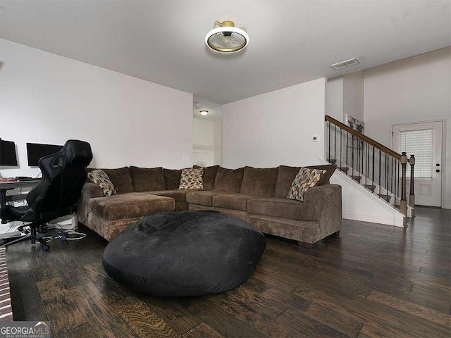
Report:
[[[451,208],[450,68],[451,49],[447,47],[364,70],[364,122],[369,137],[390,146],[390,125],[445,120],[445,208]]]

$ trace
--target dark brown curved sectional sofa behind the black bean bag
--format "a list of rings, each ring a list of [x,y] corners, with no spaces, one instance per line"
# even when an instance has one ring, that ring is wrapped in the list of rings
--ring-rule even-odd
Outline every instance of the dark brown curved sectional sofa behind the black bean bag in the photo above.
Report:
[[[178,189],[181,170],[163,168],[104,169],[117,194],[103,196],[97,184],[86,182],[78,220],[111,240],[146,215],[163,211],[216,210],[245,220],[266,234],[295,239],[303,246],[340,232],[341,187],[329,184],[334,165],[304,201],[286,196],[300,167],[226,169],[204,168],[202,190]]]

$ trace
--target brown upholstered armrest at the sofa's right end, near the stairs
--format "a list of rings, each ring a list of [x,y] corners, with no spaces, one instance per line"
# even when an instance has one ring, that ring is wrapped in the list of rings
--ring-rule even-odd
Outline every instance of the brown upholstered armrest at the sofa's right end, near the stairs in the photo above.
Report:
[[[322,238],[341,230],[341,185],[323,184],[312,187],[305,192],[304,203],[313,204],[318,208]]]

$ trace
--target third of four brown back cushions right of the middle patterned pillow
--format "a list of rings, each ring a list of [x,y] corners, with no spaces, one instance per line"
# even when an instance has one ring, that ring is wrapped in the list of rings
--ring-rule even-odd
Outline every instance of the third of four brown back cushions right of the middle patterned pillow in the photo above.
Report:
[[[259,197],[273,197],[278,168],[245,167],[240,193]]]

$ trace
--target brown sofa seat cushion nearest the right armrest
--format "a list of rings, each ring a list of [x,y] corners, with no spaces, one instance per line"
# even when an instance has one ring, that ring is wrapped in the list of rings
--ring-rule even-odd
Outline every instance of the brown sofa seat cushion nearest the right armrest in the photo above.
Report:
[[[268,215],[292,220],[317,220],[318,208],[313,204],[306,204],[293,199],[271,197],[266,199],[249,199],[247,212]]]

